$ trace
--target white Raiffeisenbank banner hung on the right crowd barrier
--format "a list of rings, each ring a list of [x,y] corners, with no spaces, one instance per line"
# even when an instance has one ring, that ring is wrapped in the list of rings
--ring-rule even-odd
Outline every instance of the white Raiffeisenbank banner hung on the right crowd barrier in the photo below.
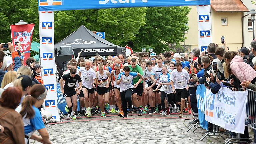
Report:
[[[248,91],[221,87],[217,94],[206,90],[205,120],[235,133],[244,133]]]

